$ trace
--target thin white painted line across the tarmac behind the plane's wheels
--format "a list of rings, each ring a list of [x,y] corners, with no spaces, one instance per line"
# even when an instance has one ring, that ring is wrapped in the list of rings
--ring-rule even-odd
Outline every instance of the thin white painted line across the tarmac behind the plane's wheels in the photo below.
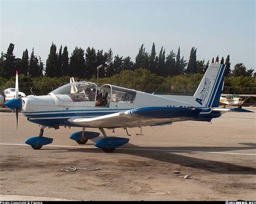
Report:
[[[0,143],[0,145],[11,145],[11,146],[29,146],[25,144],[5,144]],[[46,147],[69,147],[69,148],[98,148],[98,147],[82,147],[82,146],[65,146],[65,145],[47,145]],[[159,152],[187,152],[187,153],[209,153],[209,154],[233,154],[233,155],[250,155],[256,156],[256,154],[247,153],[231,153],[231,152],[205,152],[205,151],[188,151],[188,150],[177,150],[177,149],[147,149],[147,148],[119,148],[124,150],[139,150],[139,151],[159,151]]]

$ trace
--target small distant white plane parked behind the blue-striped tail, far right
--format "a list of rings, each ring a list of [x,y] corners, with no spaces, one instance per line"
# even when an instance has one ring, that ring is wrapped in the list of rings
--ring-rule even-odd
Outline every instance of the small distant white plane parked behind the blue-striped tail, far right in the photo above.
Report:
[[[246,99],[243,99],[241,97],[247,97]],[[221,93],[220,94],[220,103],[225,104],[225,105],[234,105],[234,106],[239,106],[245,102],[250,97],[256,97],[256,95],[253,94],[225,94]]]

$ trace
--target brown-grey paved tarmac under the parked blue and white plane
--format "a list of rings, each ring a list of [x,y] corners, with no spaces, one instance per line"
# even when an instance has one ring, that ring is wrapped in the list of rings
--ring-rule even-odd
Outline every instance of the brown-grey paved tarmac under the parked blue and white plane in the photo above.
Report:
[[[0,200],[256,200],[256,113],[145,127],[143,136],[106,130],[130,138],[113,153],[94,146],[102,134],[86,145],[70,140],[80,129],[45,129],[53,143],[35,150],[25,140],[38,125],[19,114],[16,130],[15,113],[0,112]]]

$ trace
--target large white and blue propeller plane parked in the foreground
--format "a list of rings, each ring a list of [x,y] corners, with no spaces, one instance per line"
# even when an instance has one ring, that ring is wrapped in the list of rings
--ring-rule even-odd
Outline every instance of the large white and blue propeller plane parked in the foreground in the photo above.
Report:
[[[18,125],[18,111],[21,111],[32,123],[40,125],[37,137],[25,141],[33,149],[52,143],[52,138],[43,137],[45,127],[58,129],[81,127],[82,131],[71,134],[70,139],[78,144],[86,144],[88,139],[99,136],[98,132],[85,131],[86,127],[98,128],[104,135],[95,146],[104,152],[113,152],[127,142],[129,138],[107,137],[104,128],[139,127],[143,135],[143,126],[171,125],[177,121],[197,120],[210,122],[222,113],[237,111],[251,112],[242,108],[219,108],[221,89],[224,83],[225,65],[212,63],[194,96],[157,96],[150,93],[126,89],[105,84],[99,91],[104,96],[102,104],[96,106],[96,96],[90,92],[97,90],[97,84],[87,81],[75,82],[59,87],[46,96],[23,97],[18,99],[18,74],[16,73],[15,99],[5,103],[15,110]]]

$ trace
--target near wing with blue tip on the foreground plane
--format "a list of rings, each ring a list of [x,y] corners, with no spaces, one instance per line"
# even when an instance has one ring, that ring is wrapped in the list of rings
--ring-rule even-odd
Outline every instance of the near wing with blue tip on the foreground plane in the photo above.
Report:
[[[86,127],[114,128],[171,124],[174,120],[196,118],[201,108],[193,107],[141,107],[95,118],[76,117],[69,122]]]

